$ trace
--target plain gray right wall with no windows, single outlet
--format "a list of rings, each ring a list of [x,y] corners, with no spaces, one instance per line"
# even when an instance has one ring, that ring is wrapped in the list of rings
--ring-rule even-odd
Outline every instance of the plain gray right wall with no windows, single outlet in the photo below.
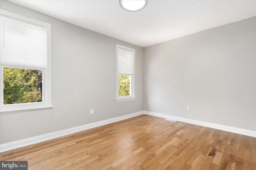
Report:
[[[256,17],[144,48],[144,110],[256,131]]]

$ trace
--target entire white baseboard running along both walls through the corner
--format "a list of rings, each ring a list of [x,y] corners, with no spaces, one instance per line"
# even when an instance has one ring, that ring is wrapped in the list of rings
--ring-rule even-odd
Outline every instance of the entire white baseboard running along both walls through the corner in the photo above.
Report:
[[[94,128],[94,127],[99,127],[99,126],[102,126],[102,125],[106,125],[106,124],[109,124],[109,123],[114,123],[116,121],[129,119],[131,117],[135,117],[135,116],[142,115],[142,114],[152,115],[152,116],[157,116],[157,117],[163,117],[163,118],[166,118],[166,119],[175,119],[177,121],[192,123],[192,124],[195,124],[195,125],[200,125],[200,126],[210,127],[210,128],[214,128],[214,129],[220,129],[220,130],[228,131],[228,132],[232,132],[232,133],[238,133],[238,134],[242,134],[242,135],[256,137],[256,131],[251,131],[251,130],[247,130],[247,129],[240,129],[240,128],[237,128],[237,127],[231,127],[231,126],[225,126],[225,125],[219,125],[219,124],[209,123],[209,122],[205,122],[205,121],[198,121],[198,120],[194,120],[194,119],[187,119],[187,118],[177,117],[177,116],[172,116],[172,115],[166,115],[166,114],[162,114],[162,113],[154,113],[154,112],[150,112],[150,111],[139,111],[139,112],[136,112],[136,113],[132,113],[132,114],[128,114],[128,115],[124,115],[124,116],[120,116],[120,117],[115,117],[115,118],[112,118],[112,119],[107,119],[107,120],[98,121],[98,122],[95,122],[95,123],[90,123],[90,124],[87,124],[87,125],[82,125],[82,126],[73,127],[73,128],[70,128],[70,129],[65,129],[65,130],[62,130],[62,131],[48,133],[48,134],[45,134],[45,135],[40,135],[40,136],[36,136],[36,137],[22,139],[22,140],[10,142],[10,143],[4,143],[4,144],[0,145],[0,152],[4,152],[4,151],[7,151],[7,150],[11,150],[11,149],[16,149],[16,148],[19,148],[19,147],[24,147],[24,146],[27,146],[27,145],[32,145],[32,144],[39,143],[39,142],[42,142],[42,141],[47,141],[49,139],[54,139],[56,137],[61,137],[61,136],[64,136],[64,135],[69,135],[71,133],[76,133],[76,132],[79,132],[79,131],[84,131],[84,130],[91,129],[91,128]]]

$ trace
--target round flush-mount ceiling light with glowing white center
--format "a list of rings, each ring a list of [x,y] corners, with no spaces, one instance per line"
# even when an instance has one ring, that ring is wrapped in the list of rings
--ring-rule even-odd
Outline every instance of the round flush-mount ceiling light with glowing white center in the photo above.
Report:
[[[119,0],[120,6],[126,11],[139,11],[145,8],[148,0]]]

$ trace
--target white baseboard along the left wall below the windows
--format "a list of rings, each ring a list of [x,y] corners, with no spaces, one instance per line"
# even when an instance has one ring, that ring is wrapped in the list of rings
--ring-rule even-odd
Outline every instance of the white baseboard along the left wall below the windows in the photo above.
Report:
[[[124,116],[120,116],[120,117],[114,117],[112,119],[97,121],[95,123],[90,123],[90,124],[87,124],[87,125],[82,125],[82,126],[73,127],[73,128],[70,128],[70,129],[65,129],[65,130],[62,130],[62,131],[48,133],[48,134],[45,134],[45,135],[40,135],[40,136],[36,136],[36,137],[22,139],[22,140],[10,142],[10,143],[4,143],[4,144],[0,145],[0,152],[4,152],[4,151],[7,151],[7,150],[11,150],[11,149],[16,149],[16,148],[19,148],[19,147],[24,147],[24,146],[27,146],[27,145],[32,145],[32,144],[39,143],[39,142],[42,142],[42,141],[47,141],[49,139],[53,139],[53,138],[56,138],[56,137],[61,137],[61,136],[64,136],[64,135],[69,135],[71,133],[84,131],[84,130],[87,130],[87,129],[91,129],[91,128],[94,128],[94,127],[99,127],[99,126],[106,125],[106,124],[109,124],[109,123],[114,123],[116,121],[129,119],[131,117],[142,115],[143,113],[144,113],[144,111],[139,111],[139,112],[136,112],[136,113],[132,113],[132,114],[128,114],[128,115],[124,115]]]

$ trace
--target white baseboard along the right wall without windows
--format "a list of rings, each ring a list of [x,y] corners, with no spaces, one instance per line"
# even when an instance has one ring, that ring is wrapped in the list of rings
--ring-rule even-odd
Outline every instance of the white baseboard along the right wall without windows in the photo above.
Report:
[[[154,112],[150,112],[150,111],[144,111],[144,114],[157,116],[157,117],[163,117],[163,118],[166,118],[166,119],[175,119],[177,121],[191,123],[191,124],[194,124],[194,125],[200,125],[200,126],[210,127],[210,128],[214,128],[214,129],[219,129],[219,130],[222,130],[222,131],[228,131],[228,132],[232,132],[232,133],[238,133],[238,134],[242,134],[242,135],[246,135],[246,136],[256,137],[256,131],[241,129],[241,128],[238,128],[238,127],[219,125],[219,124],[216,124],[216,123],[198,121],[198,120],[194,120],[194,119],[187,119],[187,118],[183,118],[183,117],[166,115],[166,114],[162,114],[162,113],[154,113]]]

